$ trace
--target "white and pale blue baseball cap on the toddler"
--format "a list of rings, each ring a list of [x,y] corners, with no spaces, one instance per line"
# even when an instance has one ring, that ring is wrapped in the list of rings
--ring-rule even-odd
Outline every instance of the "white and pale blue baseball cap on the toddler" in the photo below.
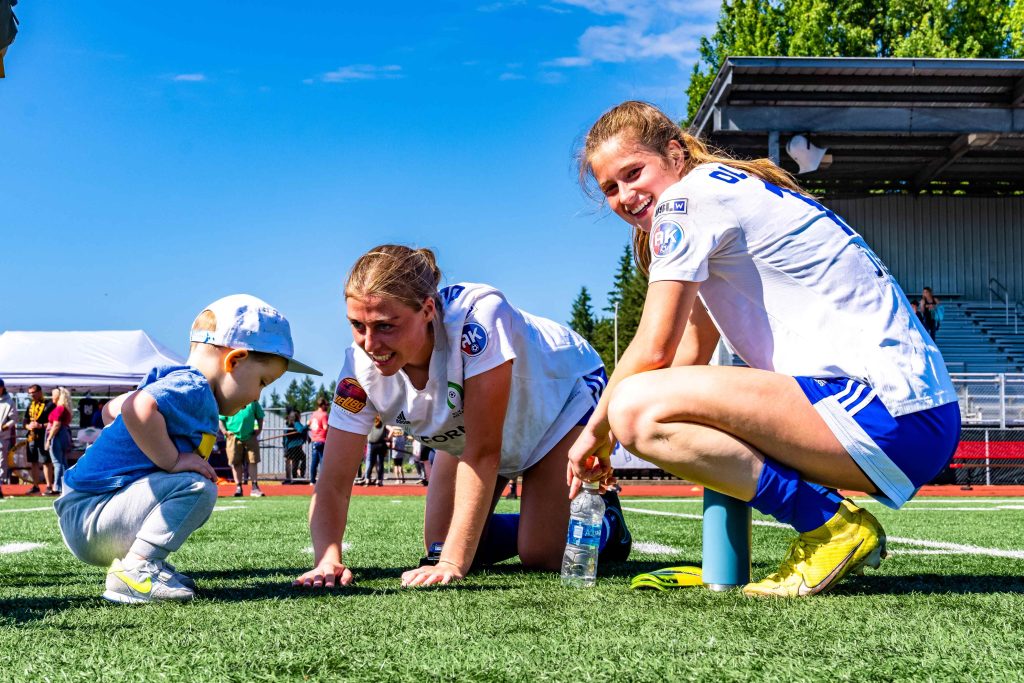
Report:
[[[280,355],[288,360],[290,372],[324,375],[292,357],[295,352],[292,327],[281,311],[266,301],[251,294],[232,294],[217,299],[204,310],[216,316],[217,329],[213,332],[193,330],[189,341]]]

